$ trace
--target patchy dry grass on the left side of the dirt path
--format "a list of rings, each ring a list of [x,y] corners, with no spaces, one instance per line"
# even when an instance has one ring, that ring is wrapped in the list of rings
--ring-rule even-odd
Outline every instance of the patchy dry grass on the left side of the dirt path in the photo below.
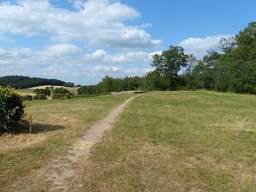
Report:
[[[32,116],[33,134],[29,134],[26,125],[26,130],[20,127],[20,133],[0,136],[0,191],[50,191],[44,175],[38,178],[36,170],[65,156],[72,141],[81,138],[90,124],[129,97],[132,96],[27,102],[26,113]]]

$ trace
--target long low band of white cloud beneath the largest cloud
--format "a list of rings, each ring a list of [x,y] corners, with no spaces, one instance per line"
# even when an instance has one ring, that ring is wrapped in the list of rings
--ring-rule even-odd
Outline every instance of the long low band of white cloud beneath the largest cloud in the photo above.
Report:
[[[31,51],[31,49],[0,49],[0,65],[24,65],[28,66],[50,66],[56,65],[68,65],[72,67],[81,67],[84,65],[89,65],[93,63],[104,63],[105,65],[109,63],[125,63],[127,65],[132,65],[132,63],[138,63],[139,65],[143,63],[152,62],[152,55],[161,54],[161,51],[156,52],[124,52],[124,53],[114,53],[109,54],[103,49],[99,49],[92,54],[84,54],[82,49],[77,45],[73,44],[54,44],[48,45],[42,51]],[[101,67],[97,65],[95,70],[104,69],[105,71],[111,68]],[[112,68],[113,71],[116,68]],[[119,70],[120,68],[118,68]]]

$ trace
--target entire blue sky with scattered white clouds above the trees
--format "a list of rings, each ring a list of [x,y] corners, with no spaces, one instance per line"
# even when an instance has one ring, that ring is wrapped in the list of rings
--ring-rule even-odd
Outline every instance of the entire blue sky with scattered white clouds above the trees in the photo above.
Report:
[[[143,76],[170,45],[202,59],[256,20],[255,0],[0,0],[0,77]]]

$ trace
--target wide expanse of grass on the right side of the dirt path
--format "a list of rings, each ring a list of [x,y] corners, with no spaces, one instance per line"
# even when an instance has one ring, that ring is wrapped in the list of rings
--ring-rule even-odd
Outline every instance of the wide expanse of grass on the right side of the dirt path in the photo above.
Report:
[[[256,97],[136,97],[88,161],[80,191],[255,191]]]

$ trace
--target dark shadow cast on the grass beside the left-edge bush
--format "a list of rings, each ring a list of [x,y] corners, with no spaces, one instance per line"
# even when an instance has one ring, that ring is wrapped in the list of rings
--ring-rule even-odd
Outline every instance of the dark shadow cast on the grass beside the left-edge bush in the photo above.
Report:
[[[58,129],[64,129],[64,126],[32,123],[32,134],[38,134],[40,132],[56,131]],[[14,134],[30,133],[29,122],[28,121],[22,122],[22,124],[20,124],[19,127],[15,127],[15,129],[13,129],[13,133]]]

